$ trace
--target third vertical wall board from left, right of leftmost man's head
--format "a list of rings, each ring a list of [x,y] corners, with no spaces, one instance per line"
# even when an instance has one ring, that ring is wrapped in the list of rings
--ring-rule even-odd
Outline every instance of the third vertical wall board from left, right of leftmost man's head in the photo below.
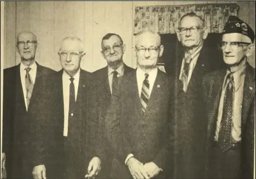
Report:
[[[37,37],[38,43],[40,43],[40,2],[30,1],[30,31]],[[40,44],[39,44],[40,45]],[[36,52],[36,61],[40,63],[39,47]]]

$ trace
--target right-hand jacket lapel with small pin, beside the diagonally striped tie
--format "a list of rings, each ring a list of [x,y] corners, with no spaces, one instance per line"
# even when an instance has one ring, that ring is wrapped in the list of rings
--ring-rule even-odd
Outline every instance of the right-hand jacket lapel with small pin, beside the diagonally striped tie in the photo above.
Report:
[[[159,100],[161,100],[160,96],[162,92],[161,89],[164,87],[164,79],[165,78],[163,74],[161,74],[160,71],[158,70],[158,74],[156,75],[154,86],[152,88],[152,93],[150,94],[148,100],[146,112],[150,111],[150,108],[152,108],[152,106],[154,106],[155,104],[158,104]]]

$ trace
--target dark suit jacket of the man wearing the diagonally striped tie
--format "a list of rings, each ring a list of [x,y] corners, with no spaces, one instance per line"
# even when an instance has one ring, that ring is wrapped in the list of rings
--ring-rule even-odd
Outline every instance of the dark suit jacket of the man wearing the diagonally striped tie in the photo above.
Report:
[[[120,77],[119,89],[114,90],[107,114],[106,134],[117,146],[116,163],[112,178],[132,178],[124,164],[128,154],[134,154],[143,164],[154,162],[166,171],[166,158],[170,152],[171,118],[168,115],[171,85],[165,73],[158,70],[147,110],[142,112],[139,100],[136,70]],[[165,177],[160,173],[157,177]]]

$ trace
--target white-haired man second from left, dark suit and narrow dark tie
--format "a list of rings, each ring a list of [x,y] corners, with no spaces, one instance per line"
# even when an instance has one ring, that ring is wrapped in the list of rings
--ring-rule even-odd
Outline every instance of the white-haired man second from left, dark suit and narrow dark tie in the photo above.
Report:
[[[59,56],[62,70],[40,80],[43,86],[29,111],[34,178],[95,177],[101,169],[97,153],[97,100],[91,89],[90,73],[80,69],[85,55],[77,37],[63,39]]]

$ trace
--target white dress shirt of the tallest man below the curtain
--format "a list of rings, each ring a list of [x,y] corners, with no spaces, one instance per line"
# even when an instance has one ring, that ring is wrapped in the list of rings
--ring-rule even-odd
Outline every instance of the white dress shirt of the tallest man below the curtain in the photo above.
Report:
[[[202,49],[203,44],[201,44],[200,46],[197,47],[197,49],[195,50],[194,53],[190,54],[188,51],[185,51],[185,55],[184,58],[182,59],[182,66],[181,66],[181,72],[179,73],[179,80],[182,80],[182,73],[183,73],[183,69],[184,69],[184,63],[185,63],[185,59],[190,56],[192,58],[190,64],[189,64],[189,72],[188,72],[188,80],[187,80],[187,86],[189,84],[189,81],[191,79],[193,70],[195,68],[197,59],[200,55],[200,51]]]

